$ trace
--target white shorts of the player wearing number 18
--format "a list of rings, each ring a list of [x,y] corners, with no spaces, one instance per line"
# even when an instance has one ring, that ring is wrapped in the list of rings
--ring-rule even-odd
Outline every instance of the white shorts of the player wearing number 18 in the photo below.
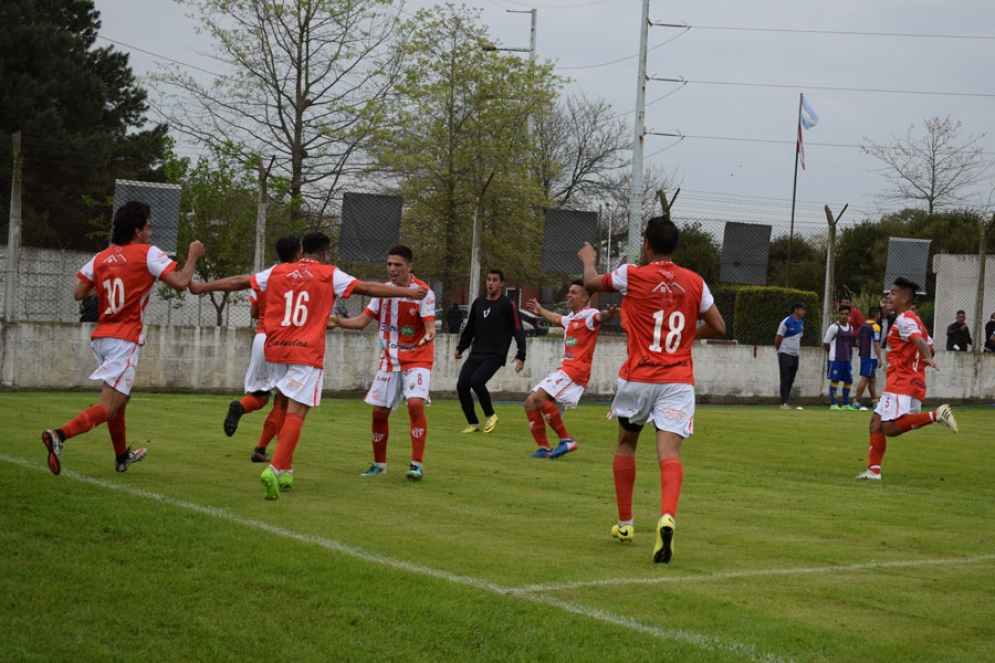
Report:
[[[619,378],[609,417],[691,437],[694,433],[694,385],[628,382]]]

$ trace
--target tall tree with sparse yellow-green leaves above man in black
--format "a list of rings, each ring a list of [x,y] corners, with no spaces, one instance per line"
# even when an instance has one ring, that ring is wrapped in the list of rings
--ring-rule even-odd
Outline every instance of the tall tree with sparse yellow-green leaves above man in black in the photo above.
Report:
[[[530,122],[549,112],[549,64],[493,50],[479,11],[421,10],[405,27],[396,94],[371,114],[375,168],[404,197],[402,237],[418,274],[444,281],[448,301],[469,274],[472,223],[483,229],[482,271],[536,281],[542,208]],[[471,293],[471,296],[475,293]]]

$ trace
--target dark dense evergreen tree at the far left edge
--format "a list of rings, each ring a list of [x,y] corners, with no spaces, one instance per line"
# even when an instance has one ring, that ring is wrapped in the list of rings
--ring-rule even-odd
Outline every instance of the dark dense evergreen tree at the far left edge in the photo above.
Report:
[[[128,56],[95,46],[100,14],[91,0],[0,3],[0,137],[20,131],[23,237],[28,245],[79,250],[93,210],[109,201],[115,179],[162,181],[166,127],[139,130],[148,110]],[[9,151],[7,152],[9,154]],[[10,182],[10,160],[0,160]],[[0,187],[9,206],[10,187]],[[110,216],[109,202],[100,210]]]

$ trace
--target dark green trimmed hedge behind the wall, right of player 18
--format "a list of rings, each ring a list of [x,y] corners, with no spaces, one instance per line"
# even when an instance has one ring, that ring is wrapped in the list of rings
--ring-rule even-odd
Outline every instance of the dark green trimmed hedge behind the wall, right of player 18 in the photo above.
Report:
[[[822,343],[819,297],[811,290],[742,286],[737,288],[732,316],[735,339],[745,345],[773,345],[777,326],[791,315],[792,302],[807,305],[802,345],[817,347]],[[726,325],[728,326],[728,317]]]

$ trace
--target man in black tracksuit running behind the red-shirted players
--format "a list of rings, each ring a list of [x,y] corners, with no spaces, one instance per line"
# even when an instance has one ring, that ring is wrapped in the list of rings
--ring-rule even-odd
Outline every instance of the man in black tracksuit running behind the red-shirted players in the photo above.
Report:
[[[491,394],[487,391],[487,381],[507,361],[512,336],[518,344],[515,372],[521,373],[525,367],[525,330],[522,329],[518,309],[502,293],[504,274],[499,269],[492,269],[487,273],[487,295],[478,297],[470,307],[466,327],[453,353],[453,357],[462,359],[463,351],[472,346],[456,382],[456,393],[459,394],[460,406],[468,424],[463,429],[464,433],[480,430],[471,390],[476,392],[484,411],[484,432],[490,433],[497,425],[497,414],[491,404]]]

